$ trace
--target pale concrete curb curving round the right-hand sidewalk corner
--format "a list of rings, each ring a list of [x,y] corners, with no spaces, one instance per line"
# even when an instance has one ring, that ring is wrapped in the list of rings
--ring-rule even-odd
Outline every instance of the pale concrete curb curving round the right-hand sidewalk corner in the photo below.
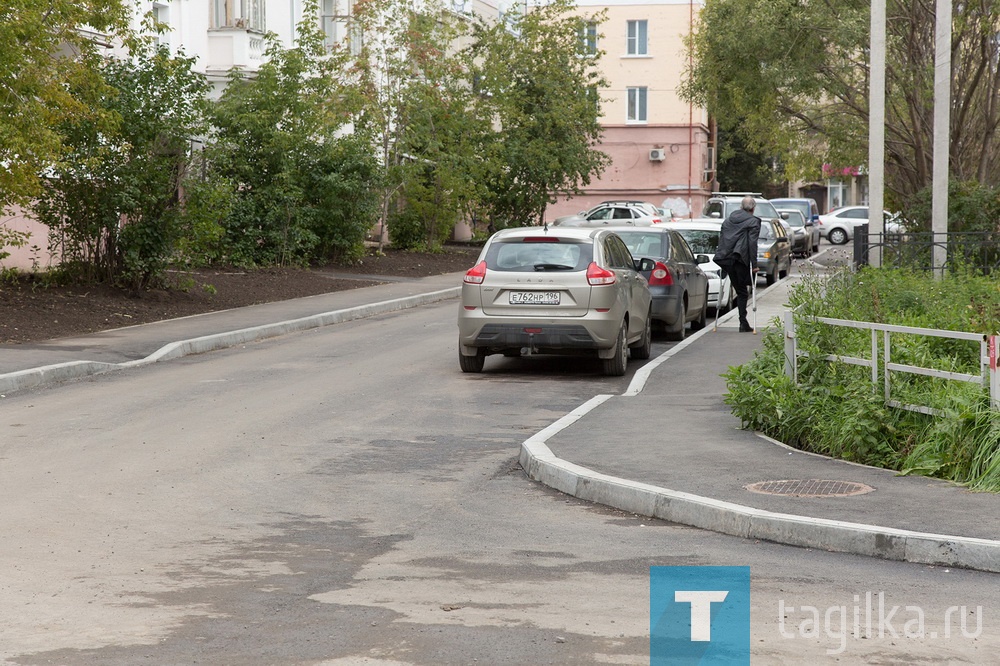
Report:
[[[728,315],[727,316],[731,316]],[[721,320],[720,320],[721,321]],[[636,373],[620,397],[637,395],[652,369],[704,335],[698,331]],[[1000,572],[1000,541],[913,532],[891,527],[775,513],[630,481],[556,457],[546,442],[612,395],[598,395],[521,444],[519,461],[529,478],[579,499],[744,539],[815,548],[886,560]]]

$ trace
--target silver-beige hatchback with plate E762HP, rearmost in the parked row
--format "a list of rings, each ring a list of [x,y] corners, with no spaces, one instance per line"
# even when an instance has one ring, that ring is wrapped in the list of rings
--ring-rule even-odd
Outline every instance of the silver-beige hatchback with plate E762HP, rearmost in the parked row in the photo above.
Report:
[[[649,358],[650,259],[632,258],[611,229],[522,227],[486,242],[462,284],[458,351],[463,372],[486,356],[586,354],[606,375]]]

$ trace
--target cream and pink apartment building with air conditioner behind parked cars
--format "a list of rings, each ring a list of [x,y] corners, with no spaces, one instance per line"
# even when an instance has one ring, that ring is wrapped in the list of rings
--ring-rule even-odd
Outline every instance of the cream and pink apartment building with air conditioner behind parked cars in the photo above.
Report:
[[[610,0],[614,2],[614,0]],[[638,199],[697,217],[712,190],[708,114],[677,94],[687,68],[687,35],[702,2],[580,0],[581,12],[607,11],[597,26],[598,66],[610,83],[601,90],[604,136],[611,165],[586,192],[546,210],[551,221],[601,201]]]

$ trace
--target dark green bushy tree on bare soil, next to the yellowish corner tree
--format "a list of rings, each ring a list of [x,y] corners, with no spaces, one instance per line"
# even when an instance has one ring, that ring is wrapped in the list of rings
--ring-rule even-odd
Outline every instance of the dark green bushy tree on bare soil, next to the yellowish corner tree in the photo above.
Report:
[[[97,64],[97,63],[95,63]],[[95,114],[54,129],[63,155],[49,169],[35,214],[86,277],[142,289],[159,277],[177,236],[178,192],[190,139],[203,131],[205,77],[194,59],[136,41],[68,86]]]

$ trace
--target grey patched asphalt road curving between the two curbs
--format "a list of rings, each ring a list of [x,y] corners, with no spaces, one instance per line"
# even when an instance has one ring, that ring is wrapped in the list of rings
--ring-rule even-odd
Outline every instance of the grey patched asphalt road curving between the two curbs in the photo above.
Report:
[[[644,664],[654,565],[751,567],[755,664],[995,663],[995,575],[721,536],[528,481],[520,442],[629,377],[495,357],[463,375],[455,307],[4,399],[3,663]]]

